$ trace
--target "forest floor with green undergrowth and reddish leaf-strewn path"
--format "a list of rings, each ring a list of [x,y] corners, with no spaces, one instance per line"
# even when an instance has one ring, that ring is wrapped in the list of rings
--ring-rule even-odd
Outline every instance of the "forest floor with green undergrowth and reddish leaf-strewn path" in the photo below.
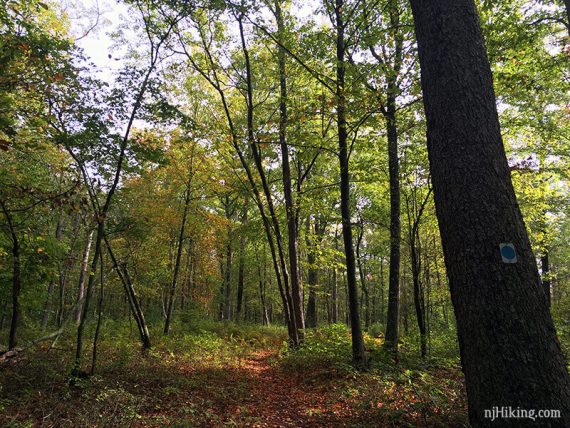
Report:
[[[72,342],[46,343],[0,367],[0,426],[467,426],[457,367],[372,350],[373,368],[357,373],[339,331],[296,352],[281,332],[238,326],[157,338],[150,352],[107,337],[95,374],[71,383]]]

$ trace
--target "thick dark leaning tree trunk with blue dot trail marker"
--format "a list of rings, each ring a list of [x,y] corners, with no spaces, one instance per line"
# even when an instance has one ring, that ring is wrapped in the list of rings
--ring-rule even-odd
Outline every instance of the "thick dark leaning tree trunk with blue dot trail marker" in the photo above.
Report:
[[[568,427],[570,377],[511,183],[475,3],[411,3],[469,419],[491,426],[494,406],[559,409],[541,425]],[[501,243],[513,244],[515,263],[503,262]]]

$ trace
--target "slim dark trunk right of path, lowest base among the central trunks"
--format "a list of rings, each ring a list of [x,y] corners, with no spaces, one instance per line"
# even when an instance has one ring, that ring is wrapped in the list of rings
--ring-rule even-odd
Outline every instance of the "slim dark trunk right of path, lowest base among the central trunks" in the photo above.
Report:
[[[357,369],[367,367],[366,350],[362,338],[360,312],[358,309],[358,286],[356,284],[356,262],[354,244],[352,242],[352,223],[350,215],[350,172],[348,155],[348,131],[346,123],[346,94],[345,94],[345,54],[344,40],[345,23],[343,21],[343,0],[336,0],[336,103],[337,129],[340,162],[340,210],[342,216],[342,237],[346,257],[346,279],[348,300],[350,306],[350,328],[352,332],[352,357]]]

